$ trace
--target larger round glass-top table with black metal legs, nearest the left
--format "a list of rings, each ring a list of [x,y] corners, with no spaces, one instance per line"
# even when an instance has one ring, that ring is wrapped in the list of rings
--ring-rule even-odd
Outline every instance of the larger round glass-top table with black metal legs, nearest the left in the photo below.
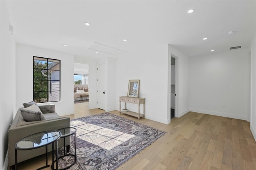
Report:
[[[47,159],[47,145],[52,143],[52,162],[54,161],[54,143],[56,147],[56,158],[58,158],[58,139],[61,137],[61,132],[60,131],[44,131],[44,132],[39,132],[35,133],[33,135],[30,135],[28,137],[25,137],[18,141],[15,144],[15,169],[17,170],[18,167],[18,160],[17,160],[17,150],[31,150],[31,149],[37,149],[40,147],[45,146],[45,152],[46,152],[46,166],[43,166],[41,168],[38,168],[37,170],[47,168],[50,165],[48,165],[48,159]],[[58,170],[58,159],[56,159],[56,169]]]

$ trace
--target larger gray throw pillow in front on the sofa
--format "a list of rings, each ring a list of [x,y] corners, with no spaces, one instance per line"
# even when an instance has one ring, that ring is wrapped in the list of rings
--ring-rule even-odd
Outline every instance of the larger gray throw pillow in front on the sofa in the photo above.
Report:
[[[21,115],[25,121],[46,120],[44,114],[40,111],[38,106],[32,104],[29,107],[20,109]]]

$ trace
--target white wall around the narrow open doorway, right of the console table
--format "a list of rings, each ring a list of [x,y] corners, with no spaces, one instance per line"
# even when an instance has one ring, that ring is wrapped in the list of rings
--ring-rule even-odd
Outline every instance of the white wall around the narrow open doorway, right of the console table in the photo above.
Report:
[[[171,55],[177,57],[177,64],[175,65],[177,67],[177,82],[175,82],[175,86],[177,88],[176,91],[176,102],[177,102],[177,117],[180,117],[189,111],[189,59],[186,55],[184,55],[182,52],[178,51],[176,48],[174,48],[172,45],[168,45],[168,66],[170,72],[170,65],[171,65]],[[170,75],[168,76],[168,94],[171,93],[170,90]],[[170,96],[168,96],[168,115],[170,115],[170,108],[171,108],[171,102],[170,102]]]

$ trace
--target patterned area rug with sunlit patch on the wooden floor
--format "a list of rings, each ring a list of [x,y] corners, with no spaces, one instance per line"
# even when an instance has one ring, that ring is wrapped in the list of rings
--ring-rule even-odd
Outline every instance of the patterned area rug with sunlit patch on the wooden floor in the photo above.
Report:
[[[165,134],[111,113],[73,119],[71,127],[77,129],[77,162],[69,170],[114,170]],[[70,152],[74,153],[74,136]],[[59,153],[63,155],[63,148]],[[66,156],[58,162],[59,168],[73,161]]]

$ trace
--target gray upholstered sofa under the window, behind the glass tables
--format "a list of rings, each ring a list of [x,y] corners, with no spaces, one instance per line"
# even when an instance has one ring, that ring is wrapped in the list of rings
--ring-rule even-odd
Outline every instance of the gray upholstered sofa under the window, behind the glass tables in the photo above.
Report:
[[[12,121],[9,129],[9,141],[8,141],[8,154],[9,154],[9,166],[10,170],[14,169],[15,165],[15,144],[22,138],[32,135],[34,133],[50,130],[58,130],[64,127],[70,127],[70,117],[60,117],[55,112],[55,105],[39,106],[46,120],[40,121],[25,121],[21,115],[20,107]],[[69,149],[70,137],[66,137],[66,145]],[[58,140],[58,147],[64,146],[63,139]],[[52,151],[52,147],[48,147],[48,152]],[[41,147],[33,150],[18,150],[18,162],[34,158],[41,154],[45,154],[45,147]]]

